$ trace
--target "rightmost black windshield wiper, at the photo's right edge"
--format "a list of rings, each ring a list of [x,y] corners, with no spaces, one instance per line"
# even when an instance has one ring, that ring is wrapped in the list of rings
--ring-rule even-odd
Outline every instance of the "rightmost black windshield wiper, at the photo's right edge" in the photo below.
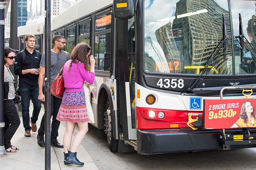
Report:
[[[236,40],[238,41],[239,38],[239,44],[240,44],[240,50],[241,50],[241,61],[243,61],[243,51],[244,51],[244,44],[245,46],[248,48],[248,50],[250,51],[250,53],[252,54],[252,56],[254,58],[256,58],[256,56],[254,55],[256,53],[256,51],[254,50],[254,48],[251,46],[251,44],[248,42],[248,40],[246,39],[246,37],[243,35],[243,24],[242,24],[242,16],[241,13],[239,13],[239,36],[235,37]],[[253,50],[254,54],[252,53],[251,49],[247,46],[247,44],[250,45],[251,49]]]

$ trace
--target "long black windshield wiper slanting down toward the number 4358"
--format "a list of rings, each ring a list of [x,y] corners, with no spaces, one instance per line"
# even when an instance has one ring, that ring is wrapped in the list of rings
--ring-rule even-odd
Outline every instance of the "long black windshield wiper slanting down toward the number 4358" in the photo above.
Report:
[[[195,83],[189,87],[187,90],[192,92],[194,88],[198,88],[200,86],[200,84],[202,83],[202,81],[205,79],[205,77],[207,76],[207,74],[210,72],[210,69],[209,71],[205,74],[204,78],[200,81],[200,83],[197,85],[197,83],[199,82],[200,78],[203,76],[203,74],[206,72],[206,70],[208,69],[208,67],[210,66],[210,64],[212,63],[213,59],[215,58],[215,56],[218,54],[218,52],[220,51],[220,48],[223,46],[223,49],[222,51],[220,52],[219,56],[217,57],[217,59],[215,60],[214,64],[212,65],[212,68],[215,66],[216,62],[218,61],[220,55],[222,54],[222,52],[224,51],[224,61],[223,62],[226,62],[226,46],[229,42],[229,40],[231,39],[231,37],[227,37],[227,32],[226,32],[226,22],[225,22],[225,14],[223,14],[223,20],[222,20],[222,31],[223,31],[223,41],[220,45],[220,47],[218,48],[218,50],[214,53],[211,61],[209,62],[208,66],[205,67],[205,70],[201,73],[201,75],[199,76],[199,78],[195,81]],[[218,47],[218,45],[217,45]],[[216,48],[217,48],[216,47]],[[216,49],[215,49],[216,50]],[[214,51],[215,51],[214,50]],[[210,67],[211,68],[211,67]],[[197,86],[196,86],[197,85]],[[195,87],[196,86],[196,87]]]

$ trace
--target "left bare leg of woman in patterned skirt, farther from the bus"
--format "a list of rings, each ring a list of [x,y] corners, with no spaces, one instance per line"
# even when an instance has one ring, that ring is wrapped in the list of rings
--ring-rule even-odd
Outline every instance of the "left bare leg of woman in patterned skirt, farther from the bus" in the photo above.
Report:
[[[66,131],[63,136],[63,148],[64,152],[68,153],[68,149],[71,148],[72,135],[75,130],[76,123],[74,122],[66,122]]]

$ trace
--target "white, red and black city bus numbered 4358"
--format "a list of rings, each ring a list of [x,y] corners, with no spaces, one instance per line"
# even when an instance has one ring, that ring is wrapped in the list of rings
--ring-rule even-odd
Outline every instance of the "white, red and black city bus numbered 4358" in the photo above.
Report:
[[[51,35],[64,36],[69,53],[92,47],[92,125],[112,152],[226,150],[256,147],[255,122],[208,126],[206,105],[235,109],[243,87],[256,98],[255,21],[255,1],[84,0],[52,19]],[[238,87],[223,92],[230,103],[215,104],[228,86]]]

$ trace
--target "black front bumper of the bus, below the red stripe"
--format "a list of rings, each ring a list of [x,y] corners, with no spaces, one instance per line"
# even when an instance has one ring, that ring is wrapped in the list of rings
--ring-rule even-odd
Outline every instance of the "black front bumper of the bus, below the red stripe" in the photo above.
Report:
[[[249,140],[233,140],[242,135],[242,129],[227,129],[226,139],[222,129],[208,131],[187,129],[155,129],[137,131],[139,154],[171,153],[201,150],[223,150],[232,148],[256,147],[256,129],[250,128]]]

